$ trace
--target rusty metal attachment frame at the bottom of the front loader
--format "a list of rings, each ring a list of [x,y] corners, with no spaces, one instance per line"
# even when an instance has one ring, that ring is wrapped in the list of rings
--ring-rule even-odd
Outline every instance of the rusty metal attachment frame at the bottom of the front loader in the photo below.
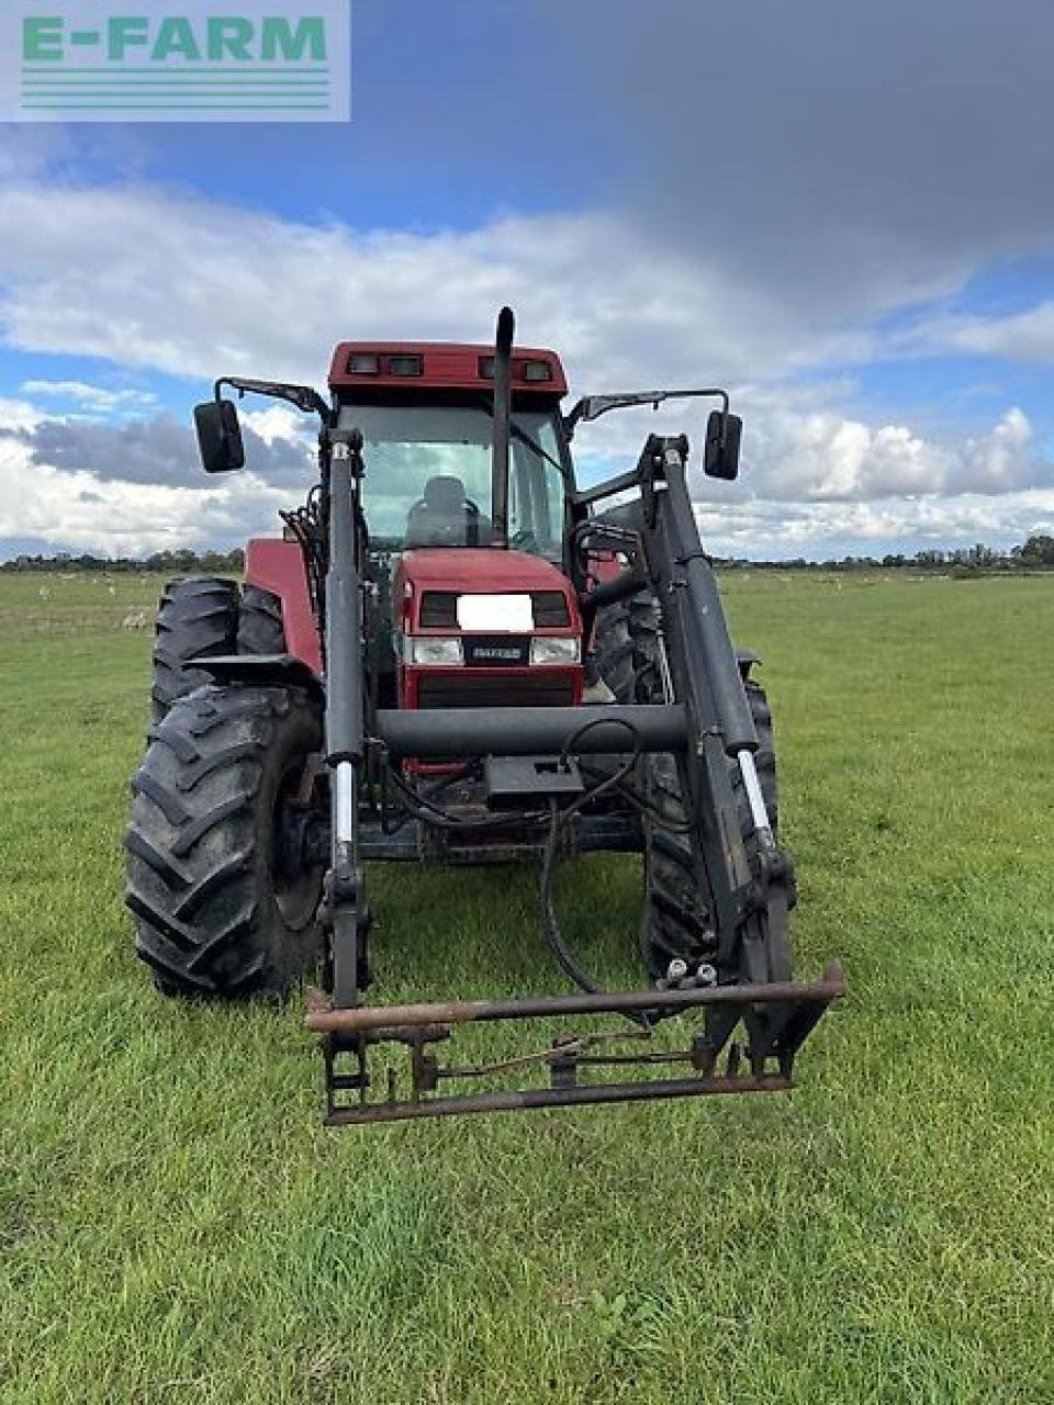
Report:
[[[669,991],[618,991],[597,995],[534,996],[519,1000],[451,1000],[430,1005],[357,1006],[339,1009],[312,993],[306,1027],[323,1035],[326,1061],[326,1123],[406,1121],[461,1113],[521,1111],[531,1107],[569,1107],[585,1103],[631,1103],[666,1097],[721,1093],[779,1093],[794,1086],[794,1055],[824,1012],[845,992],[838,962],[822,981],[720,985]],[[704,1023],[686,1048],[642,1048],[659,1023],[675,1014],[701,1010]],[[453,1038],[461,1024],[534,1019],[583,1019],[623,1014],[635,1027],[566,1031],[542,1048],[490,1064],[443,1064],[431,1045]],[[741,1038],[734,1035],[741,1033]],[[632,1050],[596,1052],[599,1045]],[[399,1096],[401,1079],[384,1069],[384,1096],[375,1086],[371,1055],[381,1044],[402,1044],[409,1054],[409,1093]],[[687,1076],[641,1076],[632,1082],[603,1082],[601,1069],[682,1065]],[[492,1087],[479,1093],[443,1096],[450,1082],[502,1080],[521,1069],[538,1069],[547,1083]],[[585,1075],[585,1079],[583,1079]]]

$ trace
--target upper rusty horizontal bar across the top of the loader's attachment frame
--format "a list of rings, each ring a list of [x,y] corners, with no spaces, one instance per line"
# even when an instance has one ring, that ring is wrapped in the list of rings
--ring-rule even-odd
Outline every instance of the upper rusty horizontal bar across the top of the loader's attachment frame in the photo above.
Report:
[[[427,1024],[472,1024],[571,1014],[625,1014],[638,1010],[687,1010],[707,1005],[829,1005],[845,993],[842,965],[832,961],[822,981],[773,981],[766,985],[715,985],[694,991],[613,991],[597,995],[540,995],[521,1000],[443,1000],[434,1005],[378,1005],[334,1009],[315,993],[305,1024],[316,1034],[364,1034],[368,1030]]]

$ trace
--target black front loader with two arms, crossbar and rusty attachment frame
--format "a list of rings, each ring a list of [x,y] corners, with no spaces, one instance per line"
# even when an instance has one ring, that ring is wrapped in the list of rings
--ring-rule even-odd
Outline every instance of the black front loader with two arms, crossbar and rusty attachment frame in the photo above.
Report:
[[[507,344],[499,340],[499,357],[503,351],[507,355]],[[500,384],[500,377],[496,381]],[[507,434],[500,414],[496,433]],[[363,437],[357,430],[323,429],[329,524],[326,764],[332,797],[323,919],[329,960],[327,995],[312,999],[306,1024],[323,1037],[330,1123],[784,1090],[791,1086],[802,1041],[842,995],[838,967],[819,982],[791,981],[787,919],[793,867],[773,837],[757,783],[757,735],[717,582],[700,544],[686,482],[687,454],[684,437],[649,436],[631,473],[571,497],[572,516],[585,530],[597,503],[627,488],[639,493],[637,569],[659,601],[668,663],[661,704],[503,708],[499,717],[475,708],[371,711],[361,648],[368,541],[360,502],[367,471]],[[670,978],[661,982],[666,989],[606,993],[592,986],[585,995],[520,1000],[363,1006],[371,922],[360,836],[360,798],[367,781],[398,757],[450,762],[530,754],[566,766],[580,754],[624,752],[627,738],[634,757],[661,752],[676,759],[696,877],[708,895],[715,934],[713,965],[670,969]],[[729,762],[739,767],[749,799],[749,835],[742,830]],[[548,799],[555,836],[558,801],[555,795],[540,798]],[[606,1014],[628,1019],[631,1028],[564,1030],[541,1048],[488,1065],[444,1065],[430,1052],[469,1023],[580,1021]],[[690,1043],[641,1050],[639,1043],[653,1040],[675,1014],[701,1017]],[[625,1040],[634,1043],[631,1051],[594,1052],[597,1044]],[[409,1051],[408,1096],[401,1093],[391,1065],[386,1082],[374,1072],[384,1044]],[[687,1076],[632,1082],[596,1076],[613,1068],[646,1075],[670,1064],[680,1064]],[[545,1071],[548,1083],[454,1096],[441,1092],[450,1082],[496,1079],[507,1085],[512,1073],[528,1065]],[[583,1071],[592,1080],[583,1082]],[[384,1096],[371,1097],[378,1083],[384,1083]]]

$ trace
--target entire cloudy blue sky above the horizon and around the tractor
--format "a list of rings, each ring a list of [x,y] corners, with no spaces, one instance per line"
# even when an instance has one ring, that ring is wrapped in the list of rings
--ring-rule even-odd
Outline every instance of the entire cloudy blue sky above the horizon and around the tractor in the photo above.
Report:
[[[204,479],[216,375],[505,302],[573,393],[729,388],[718,555],[1054,534],[1048,0],[354,0],[351,48],[347,124],[0,125],[0,558],[274,530],[305,426],[254,402]],[[701,412],[582,476],[649,430]]]

